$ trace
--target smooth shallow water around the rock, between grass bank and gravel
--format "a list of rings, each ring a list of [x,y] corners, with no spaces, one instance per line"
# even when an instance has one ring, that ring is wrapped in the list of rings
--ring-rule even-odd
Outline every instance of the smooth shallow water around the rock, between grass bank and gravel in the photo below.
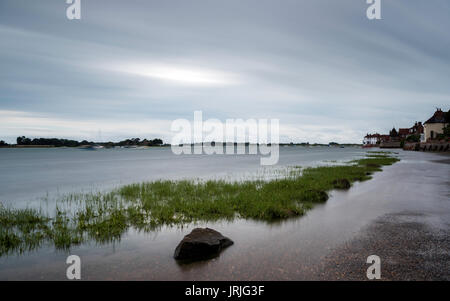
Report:
[[[450,220],[449,189],[443,178],[448,175],[447,156],[401,152],[400,157],[402,161],[375,173],[372,180],[357,182],[348,191],[333,191],[326,203],[298,219],[275,224],[207,222],[162,229],[154,236],[133,231],[120,244],[99,249],[79,246],[70,253],[83,258],[86,280],[336,280],[323,274],[327,256],[332,258],[346,242],[364,236],[364,229],[378,218],[407,209],[422,212],[424,222],[440,228]],[[173,249],[194,226],[214,228],[233,238],[235,245],[216,259],[177,265]],[[372,254],[364,252],[360,256]],[[45,249],[23,258],[0,258],[0,279],[61,280],[66,254]],[[383,255],[382,267],[390,260]],[[357,265],[351,279],[366,280],[367,264]],[[414,274],[414,265],[409,268]],[[358,272],[362,269],[363,274]],[[382,280],[383,275],[382,270]]]

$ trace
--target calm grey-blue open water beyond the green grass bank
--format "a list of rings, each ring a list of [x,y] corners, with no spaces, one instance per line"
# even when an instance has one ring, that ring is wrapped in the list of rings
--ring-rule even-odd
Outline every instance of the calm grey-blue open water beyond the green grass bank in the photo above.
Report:
[[[360,148],[281,147],[279,164],[349,160]],[[47,194],[111,189],[156,179],[241,178],[264,173],[256,155],[174,155],[150,149],[0,149],[0,200],[32,202]],[[269,168],[270,169],[270,168]]]

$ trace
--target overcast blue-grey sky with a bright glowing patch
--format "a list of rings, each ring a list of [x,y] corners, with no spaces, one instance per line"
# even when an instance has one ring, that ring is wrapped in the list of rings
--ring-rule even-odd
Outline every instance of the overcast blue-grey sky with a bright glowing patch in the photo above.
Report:
[[[361,143],[450,103],[450,1],[0,0],[0,140],[170,142],[173,120],[276,118]]]

